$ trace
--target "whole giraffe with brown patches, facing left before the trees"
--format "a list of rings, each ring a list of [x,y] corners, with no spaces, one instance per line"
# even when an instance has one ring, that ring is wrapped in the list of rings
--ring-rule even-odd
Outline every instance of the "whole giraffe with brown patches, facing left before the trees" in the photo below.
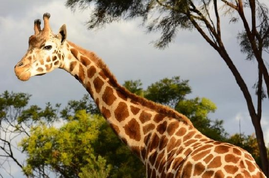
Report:
[[[184,115],[138,97],[121,86],[91,51],[67,40],[66,25],[57,35],[50,14],[34,21],[29,48],[15,66],[26,81],[55,68],[75,77],[95,101],[114,133],[146,166],[147,178],[265,178],[252,156],[240,147],[202,135]]]

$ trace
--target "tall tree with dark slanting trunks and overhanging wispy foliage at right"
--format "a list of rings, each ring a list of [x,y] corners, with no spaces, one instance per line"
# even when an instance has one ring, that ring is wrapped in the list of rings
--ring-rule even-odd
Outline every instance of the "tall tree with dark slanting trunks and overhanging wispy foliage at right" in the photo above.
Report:
[[[158,48],[167,47],[179,29],[196,29],[224,60],[233,74],[244,98],[251,117],[262,159],[262,170],[269,176],[268,155],[261,128],[262,100],[269,96],[269,74],[262,57],[269,52],[268,8],[259,0],[67,0],[66,6],[86,9],[92,6],[88,29],[100,28],[120,19],[130,20],[142,17],[142,24],[148,32],[161,31],[155,41]],[[247,19],[245,13],[250,13]],[[154,16],[155,15],[155,16]],[[247,59],[257,61],[258,81],[255,84],[257,106],[238,67],[229,56],[222,39],[221,17],[231,15],[230,22],[241,20],[243,31],[238,34],[241,51]]]

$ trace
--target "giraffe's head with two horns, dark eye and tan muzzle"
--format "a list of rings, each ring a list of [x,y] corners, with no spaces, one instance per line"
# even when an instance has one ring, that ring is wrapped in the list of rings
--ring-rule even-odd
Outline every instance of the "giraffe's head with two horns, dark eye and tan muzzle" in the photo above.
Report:
[[[61,66],[64,59],[63,48],[67,38],[64,24],[57,35],[49,26],[49,13],[43,15],[44,28],[41,20],[34,21],[35,34],[29,37],[29,48],[22,59],[15,65],[18,79],[26,81],[32,76],[43,75]]]

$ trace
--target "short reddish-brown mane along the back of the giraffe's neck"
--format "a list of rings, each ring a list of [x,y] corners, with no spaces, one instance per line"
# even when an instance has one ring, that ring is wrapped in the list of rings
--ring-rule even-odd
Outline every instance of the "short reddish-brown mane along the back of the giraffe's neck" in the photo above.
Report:
[[[182,121],[185,124],[193,127],[193,124],[190,121],[190,119],[188,119],[183,114],[180,114],[179,112],[175,111],[174,109],[172,109],[168,106],[164,106],[162,104],[145,99],[143,97],[139,97],[139,96],[131,93],[129,90],[127,90],[122,85],[120,85],[117,82],[114,75],[112,74],[112,72],[107,67],[107,65],[104,63],[104,61],[101,58],[99,58],[94,52],[88,51],[80,46],[77,46],[76,44],[74,44],[71,41],[68,41],[68,44],[70,44],[72,47],[77,49],[81,54],[85,55],[87,58],[91,59],[99,68],[102,69],[104,74],[110,79],[110,83],[112,84],[112,86],[117,88],[117,90],[119,90],[126,97],[130,98],[132,101],[137,102],[144,107],[148,107],[149,109],[154,110],[157,113],[162,114],[164,116],[179,119],[179,121]]]

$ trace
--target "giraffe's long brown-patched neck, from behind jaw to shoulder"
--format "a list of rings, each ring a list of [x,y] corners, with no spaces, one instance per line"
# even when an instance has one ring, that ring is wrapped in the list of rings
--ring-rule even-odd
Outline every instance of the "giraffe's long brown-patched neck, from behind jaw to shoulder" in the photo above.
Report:
[[[152,101],[135,96],[119,85],[101,59],[72,42],[67,42],[67,51],[61,68],[78,79],[90,93],[100,112],[109,122],[118,137],[153,169],[157,150],[163,155],[175,145],[171,136],[180,127],[182,132],[194,129],[192,123],[183,115]],[[195,129],[194,129],[195,130]],[[167,138],[170,136],[170,138]],[[170,147],[166,148],[168,141]],[[181,151],[184,149],[181,149]],[[183,154],[183,153],[182,153]]]

